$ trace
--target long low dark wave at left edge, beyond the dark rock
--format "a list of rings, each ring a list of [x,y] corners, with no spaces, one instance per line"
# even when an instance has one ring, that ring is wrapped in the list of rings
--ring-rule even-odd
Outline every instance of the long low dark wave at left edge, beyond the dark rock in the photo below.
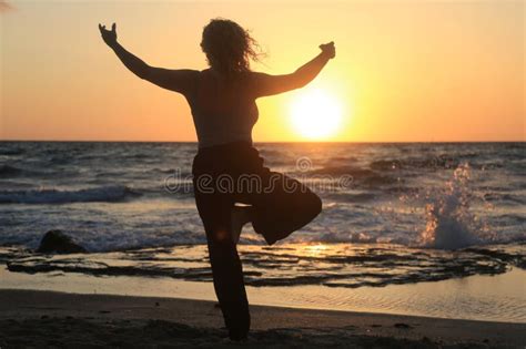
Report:
[[[89,202],[118,202],[141,193],[128,186],[103,186],[78,191],[31,189],[0,191],[0,204],[65,204]]]

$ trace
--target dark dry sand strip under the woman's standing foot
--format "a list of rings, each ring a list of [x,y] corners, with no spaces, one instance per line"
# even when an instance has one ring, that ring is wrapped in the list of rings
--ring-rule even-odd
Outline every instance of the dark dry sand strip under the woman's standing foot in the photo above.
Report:
[[[213,301],[0,290],[0,347],[524,348],[526,325],[252,306],[247,341]]]

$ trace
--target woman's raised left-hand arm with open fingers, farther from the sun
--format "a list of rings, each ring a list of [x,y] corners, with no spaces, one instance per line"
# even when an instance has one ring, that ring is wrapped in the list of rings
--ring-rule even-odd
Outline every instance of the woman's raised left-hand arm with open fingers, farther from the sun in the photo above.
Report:
[[[190,69],[163,69],[150,66],[143,60],[124,49],[117,42],[117,25],[113,23],[111,30],[99,24],[102,40],[115,52],[121,62],[139,78],[150,81],[166,90],[186,94],[193,86],[198,71]]]

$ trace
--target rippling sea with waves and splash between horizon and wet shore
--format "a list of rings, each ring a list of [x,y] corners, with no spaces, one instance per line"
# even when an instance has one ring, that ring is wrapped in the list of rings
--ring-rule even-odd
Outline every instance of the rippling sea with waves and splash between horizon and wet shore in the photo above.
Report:
[[[272,246],[245,226],[237,249],[247,286],[358,290],[526,269],[524,142],[254,146],[272,171],[320,195],[323,212]],[[192,189],[196,151],[0,142],[0,263],[31,275],[210,283]],[[34,253],[52,229],[90,254]],[[512,302],[509,318],[526,321],[524,298]]]

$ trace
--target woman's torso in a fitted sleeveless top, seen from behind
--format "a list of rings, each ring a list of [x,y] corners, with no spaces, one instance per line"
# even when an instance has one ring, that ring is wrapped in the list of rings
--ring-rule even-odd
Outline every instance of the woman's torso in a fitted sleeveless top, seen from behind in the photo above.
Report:
[[[201,71],[188,95],[199,147],[233,142],[252,143],[257,106],[250,88],[250,72],[225,79],[215,71]]]

